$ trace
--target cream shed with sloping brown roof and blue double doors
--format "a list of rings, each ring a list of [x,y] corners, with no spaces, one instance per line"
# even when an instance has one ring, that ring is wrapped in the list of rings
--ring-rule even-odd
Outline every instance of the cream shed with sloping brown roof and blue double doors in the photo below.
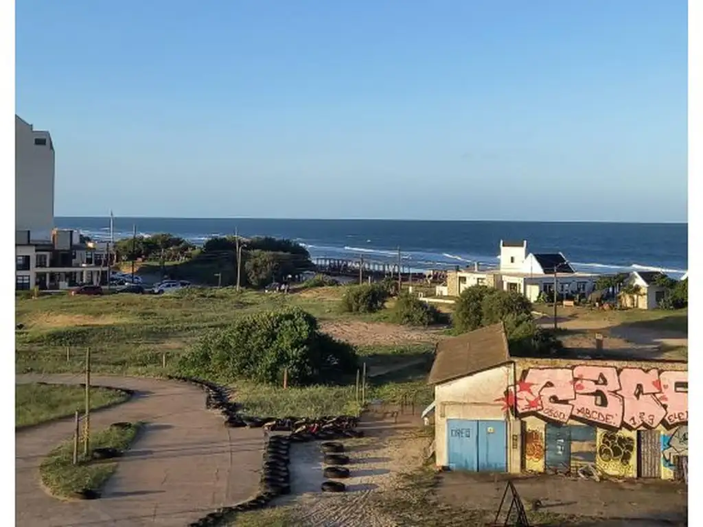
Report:
[[[439,467],[520,471],[520,422],[512,419],[505,395],[514,370],[502,323],[437,344],[428,382],[434,384]]]

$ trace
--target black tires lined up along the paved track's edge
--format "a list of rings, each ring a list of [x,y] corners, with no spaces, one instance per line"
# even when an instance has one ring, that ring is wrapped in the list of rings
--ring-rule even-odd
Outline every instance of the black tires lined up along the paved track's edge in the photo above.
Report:
[[[219,410],[224,416],[226,427],[262,427],[269,431],[283,428],[289,434],[273,434],[268,436],[264,448],[262,462],[262,480],[259,493],[252,500],[240,503],[233,507],[222,507],[198,521],[189,524],[189,527],[214,527],[231,521],[233,516],[241,513],[262,509],[269,505],[274,498],[290,493],[290,445],[316,440],[333,440],[363,436],[363,432],[356,430],[358,424],[356,417],[338,416],[321,419],[266,419],[261,417],[247,417],[239,415],[237,405],[229,401],[227,392],[219,385],[201,379],[190,377],[170,377],[173,380],[188,382],[200,386],[205,390],[205,406],[212,410]],[[240,423],[244,423],[241,425]],[[273,423],[273,424],[271,424]],[[266,426],[269,424],[269,426]],[[277,428],[278,427],[278,428]],[[344,447],[341,443],[322,443],[321,448],[325,453],[325,463],[333,465],[325,467],[325,477],[328,479],[343,479],[349,477],[349,469],[340,465],[348,464],[349,457],[343,455]],[[341,492],[345,490],[339,481],[325,481],[322,483],[323,492]]]

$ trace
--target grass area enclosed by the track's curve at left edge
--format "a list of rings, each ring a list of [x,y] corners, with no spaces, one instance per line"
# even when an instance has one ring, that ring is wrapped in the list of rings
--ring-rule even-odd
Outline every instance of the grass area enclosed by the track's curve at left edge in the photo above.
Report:
[[[129,395],[120,390],[91,389],[91,408],[121,403]],[[73,415],[83,408],[85,389],[60,384],[17,384],[15,386],[15,428],[28,427],[51,419]]]

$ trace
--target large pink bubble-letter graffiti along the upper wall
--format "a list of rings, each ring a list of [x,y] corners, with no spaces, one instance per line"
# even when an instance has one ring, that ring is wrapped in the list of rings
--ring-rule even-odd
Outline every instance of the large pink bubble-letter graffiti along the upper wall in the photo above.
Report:
[[[508,393],[517,415],[560,423],[577,419],[612,429],[688,423],[688,372],[592,365],[531,368]]]

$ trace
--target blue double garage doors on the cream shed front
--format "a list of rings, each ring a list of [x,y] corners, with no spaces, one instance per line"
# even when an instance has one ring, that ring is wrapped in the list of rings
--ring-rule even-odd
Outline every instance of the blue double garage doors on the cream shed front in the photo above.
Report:
[[[505,421],[447,419],[451,470],[504,472],[508,467]]]

